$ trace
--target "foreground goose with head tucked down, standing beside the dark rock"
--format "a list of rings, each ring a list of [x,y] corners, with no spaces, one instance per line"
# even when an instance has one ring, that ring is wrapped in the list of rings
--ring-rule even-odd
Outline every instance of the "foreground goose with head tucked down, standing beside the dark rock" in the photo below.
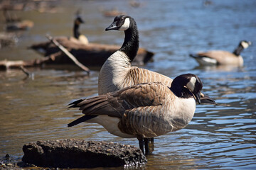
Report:
[[[185,128],[201,103],[203,84],[194,74],[182,74],[171,87],[161,83],[137,84],[119,91],[80,99],[69,108],[79,108],[85,115],[68,124],[98,123],[112,135],[137,137],[145,154],[144,139]]]

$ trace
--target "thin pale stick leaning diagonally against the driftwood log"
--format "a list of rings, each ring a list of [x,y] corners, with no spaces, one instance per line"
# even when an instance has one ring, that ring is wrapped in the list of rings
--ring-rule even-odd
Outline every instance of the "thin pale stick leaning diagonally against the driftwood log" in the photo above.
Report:
[[[67,49],[65,49],[65,47],[63,47],[63,45],[60,45],[60,43],[50,35],[46,35],[46,38],[48,38],[51,42],[53,42],[61,51],[65,53],[65,55],[68,55],[68,57],[70,57],[70,59],[73,60],[73,62],[75,62],[75,64],[77,64],[78,67],[80,67],[85,72],[87,72],[87,74],[90,74],[90,69],[85,67],[82,63],[80,63]]]

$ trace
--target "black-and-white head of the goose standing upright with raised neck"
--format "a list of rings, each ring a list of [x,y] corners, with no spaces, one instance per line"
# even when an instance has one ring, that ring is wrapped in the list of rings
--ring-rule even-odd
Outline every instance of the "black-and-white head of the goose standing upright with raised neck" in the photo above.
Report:
[[[116,16],[113,23],[105,30],[127,30],[130,27],[132,18],[130,16]]]

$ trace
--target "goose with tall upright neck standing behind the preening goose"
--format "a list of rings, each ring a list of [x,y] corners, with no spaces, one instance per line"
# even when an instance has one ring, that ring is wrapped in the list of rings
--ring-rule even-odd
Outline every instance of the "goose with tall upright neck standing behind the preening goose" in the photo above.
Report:
[[[125,37],[122,47],[114,52],[100,69],[98,79],[98,94],[107,94],[135,84],[161,82],[171,86],[171,78],[138,67],[132,67],[132,60],[139,49],[139,32],[134,18],[130,16],[116,16],[107,30],[122,30]],[[202,103],[215,103],[208,96],[201,94]],[[148,140],[145,140],[147,142]],[[151,139],[153,142],[153,139]]]

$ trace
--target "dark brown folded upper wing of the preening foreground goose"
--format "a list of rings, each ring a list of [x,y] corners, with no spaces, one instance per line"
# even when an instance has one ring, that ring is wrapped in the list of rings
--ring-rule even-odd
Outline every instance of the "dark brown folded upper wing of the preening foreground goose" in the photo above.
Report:
[[[71,107],[80,107],[85,115],[110,115],[121,118],[125,111],[132,108],[161,105],[165,95],[159,94],[163,89],[168,88],[160,83],[139,84],[74,102]]]

